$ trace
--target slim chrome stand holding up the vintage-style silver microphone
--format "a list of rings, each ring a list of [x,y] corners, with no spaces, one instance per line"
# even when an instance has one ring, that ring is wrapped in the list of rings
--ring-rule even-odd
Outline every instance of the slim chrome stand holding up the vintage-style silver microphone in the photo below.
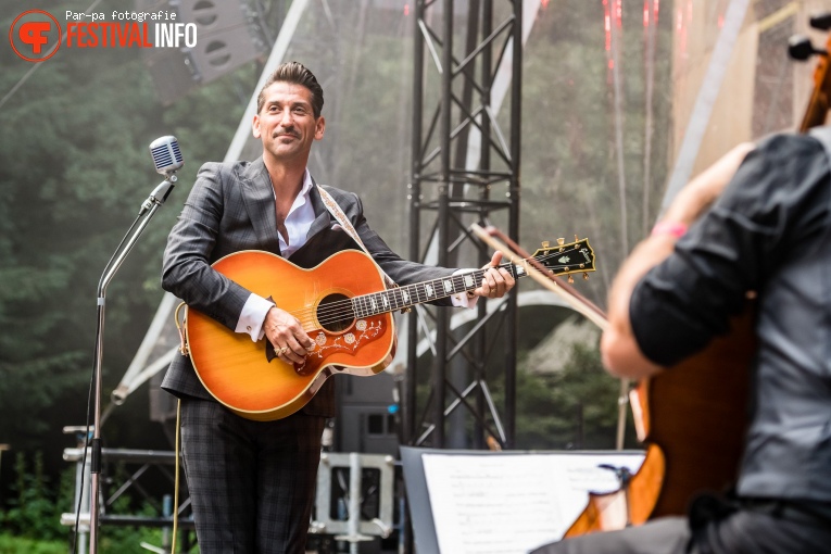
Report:
[[[99,484],[101,476],[101,389],[102,375],[101,365],[104,350],[104,307],[106,304],[106,287],[115,276],[124,260],[129,254],[133,247],[136,245],[141,234],[147,228],[150,219],[153,218],[156,211],[161,207],[167,196],[173,191],[175,182],[178,180],[175,172],[165,173],[163,180],[148,199],[141,204],[138,218],[133,224],[127,235],[122,239],[110,262],[106,264],[101,280],[98,284],[98,327],[96,330],[96,351],[93,363],[95,380],[95,415],[92,426],[92,439],[89,441],[90,451],[90,507],[89,507],[89,554],[98,552],[98,521],[99,521]],[[131,235],[130,235],[131,232]],[[89,437],[89,433],[87,433]],[[86,453],[85,453],[86,454]]]

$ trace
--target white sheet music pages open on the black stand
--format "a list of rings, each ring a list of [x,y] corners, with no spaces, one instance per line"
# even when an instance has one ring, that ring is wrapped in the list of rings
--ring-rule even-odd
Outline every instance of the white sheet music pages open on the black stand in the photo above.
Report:
[[[617,490],[641,454],[424,454],[439,547],[444,554],[526,554],[561,539],[588,492]]]

